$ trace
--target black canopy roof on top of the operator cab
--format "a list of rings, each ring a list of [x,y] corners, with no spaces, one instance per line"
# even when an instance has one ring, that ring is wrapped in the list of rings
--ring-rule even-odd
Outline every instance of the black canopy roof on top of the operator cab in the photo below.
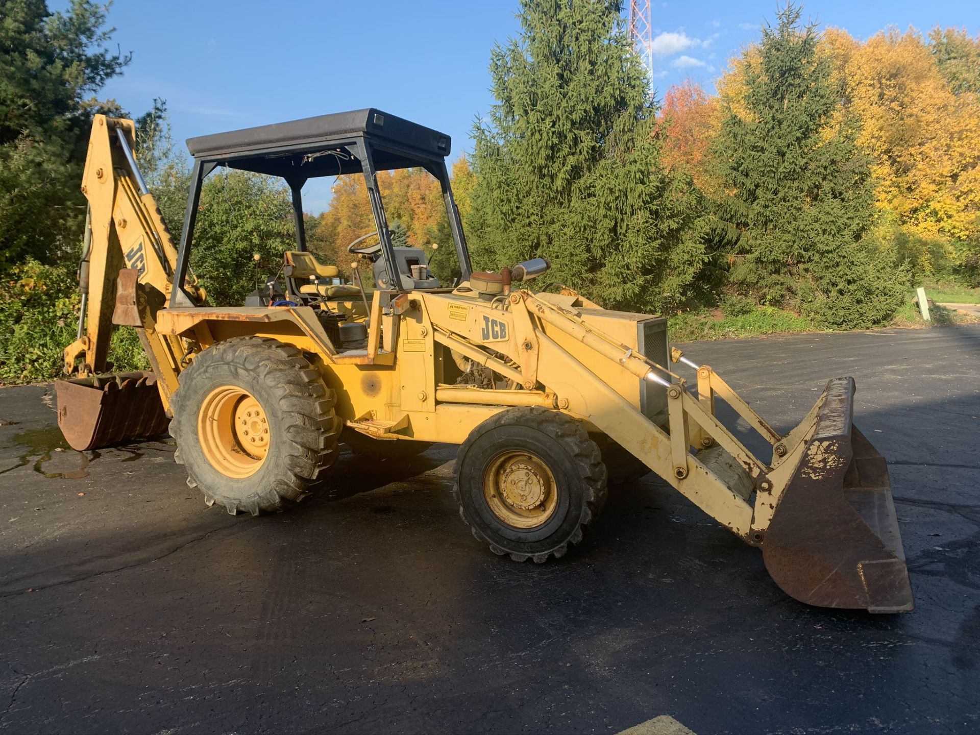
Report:
[[[449,155],[450,136],[368,108],[188,138],[196,159],[246,171],[303,177],[361,171],[343,144],[369,138],[377,169],[418,166]]]

